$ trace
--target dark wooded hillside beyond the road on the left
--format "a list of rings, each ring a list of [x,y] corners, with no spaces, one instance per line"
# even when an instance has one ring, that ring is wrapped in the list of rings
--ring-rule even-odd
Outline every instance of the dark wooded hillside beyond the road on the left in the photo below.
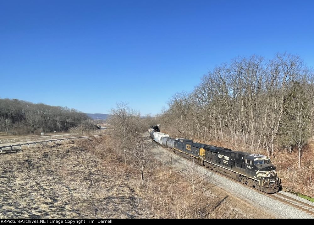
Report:
[[[0,132],[7,135],[67,131],[77,126],[91,128],[92,124],[85,113],[76,109],[0,99]]]

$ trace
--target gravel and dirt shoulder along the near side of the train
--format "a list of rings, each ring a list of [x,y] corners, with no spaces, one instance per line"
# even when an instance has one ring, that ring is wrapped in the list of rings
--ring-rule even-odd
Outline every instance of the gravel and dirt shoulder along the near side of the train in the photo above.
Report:
[[[169,164],[169,152],[151,139],[152,153],[157,160],[164,164]],[[185,172],[187,159],[173,154],[172,168],[180,173]],[[197,170],[207,176],[209,182],[213,184],[211,192],[216,195],[226,197],[234,207],[245,213],[250,218],[314,218],[311,215],[301,212],[296,208],[283,204],[282,202],[264,195],[262,192],[256,192],[249,188],[244,188],[241,183],[231,181],[222,175],[219,175],[205,167],[197,166]]]

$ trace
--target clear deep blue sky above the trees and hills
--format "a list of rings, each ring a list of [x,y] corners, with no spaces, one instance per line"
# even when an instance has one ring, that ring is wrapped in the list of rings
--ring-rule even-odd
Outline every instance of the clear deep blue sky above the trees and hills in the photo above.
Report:
[[[108,113],[160,112],[235,56],[314,65],[314,1],[0,2],[0,97]]]

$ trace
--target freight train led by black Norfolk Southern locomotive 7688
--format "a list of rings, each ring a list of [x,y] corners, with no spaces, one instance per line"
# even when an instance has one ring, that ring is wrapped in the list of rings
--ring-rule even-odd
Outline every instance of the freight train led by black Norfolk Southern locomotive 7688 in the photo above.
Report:
[[[148,134],[155,142],[172,149],[176,154],[188,156],[196,163],[243,184],[266,193],[275,193],[281,189],[276,167],[265,155],[233,151],[184,138],[173,139],[153,128],[148,129]]]

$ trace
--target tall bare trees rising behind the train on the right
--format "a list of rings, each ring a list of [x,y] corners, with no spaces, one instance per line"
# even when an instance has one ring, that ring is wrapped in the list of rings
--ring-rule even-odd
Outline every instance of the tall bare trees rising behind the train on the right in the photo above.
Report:
[[[252,55],[215,66],[190,92],[174,95],[161,120],[178,137],[235,146],[301,150],[313,134],[314,73],[298,55]]]

